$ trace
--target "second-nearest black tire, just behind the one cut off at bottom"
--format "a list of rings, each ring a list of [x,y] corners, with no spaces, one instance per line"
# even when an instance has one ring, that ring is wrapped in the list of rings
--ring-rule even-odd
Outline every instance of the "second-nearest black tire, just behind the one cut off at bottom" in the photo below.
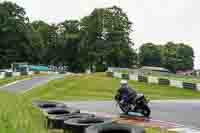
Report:
[[[64,122],[64,133],[85,133],[86,128],[108,122],[104,118],[74,118]]]

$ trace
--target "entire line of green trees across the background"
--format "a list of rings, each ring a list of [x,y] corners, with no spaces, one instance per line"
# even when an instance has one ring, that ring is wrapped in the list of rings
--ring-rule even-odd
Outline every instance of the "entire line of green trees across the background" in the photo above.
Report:
[[[0,68],[13,62],[68,66],[72,72],[104,71],[109,66],[150,65],[170,70],[193,67],[193,50],[185,44],[145,44],[137,53],[130,38],[132,27],[127,14],[117,6],[94,9],[80,20],[48,24],[30,22],[23,7],[1,2]],[[183,58],[189,60],[184,65]],[[174,67],[175,60],[178,64]]]

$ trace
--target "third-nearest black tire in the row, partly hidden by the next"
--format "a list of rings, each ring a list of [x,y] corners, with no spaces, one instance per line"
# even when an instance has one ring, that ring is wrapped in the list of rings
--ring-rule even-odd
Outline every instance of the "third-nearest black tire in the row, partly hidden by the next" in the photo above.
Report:
[[[75,113],[64,116],[48,116],[47,128],[49,129],[64,129],[64,121],[74,118],[89,118],[94,117],[91,114]]]

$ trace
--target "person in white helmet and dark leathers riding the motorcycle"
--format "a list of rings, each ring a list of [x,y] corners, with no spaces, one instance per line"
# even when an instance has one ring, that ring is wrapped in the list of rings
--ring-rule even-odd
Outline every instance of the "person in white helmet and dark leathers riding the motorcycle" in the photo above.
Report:
[[[118,89],[118,94],[120,96],[120,103],[128,102],[129,100],[135,101],[137,92],[128,86],[127,80],[120,81],[121,87]]]

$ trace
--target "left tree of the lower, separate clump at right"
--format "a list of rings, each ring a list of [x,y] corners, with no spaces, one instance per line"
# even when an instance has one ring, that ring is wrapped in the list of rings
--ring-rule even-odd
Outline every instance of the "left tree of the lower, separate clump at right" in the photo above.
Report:
[[[161,50],[153,43],[145,43],[139,50],[139,63],[142,66],[162,66]]]

